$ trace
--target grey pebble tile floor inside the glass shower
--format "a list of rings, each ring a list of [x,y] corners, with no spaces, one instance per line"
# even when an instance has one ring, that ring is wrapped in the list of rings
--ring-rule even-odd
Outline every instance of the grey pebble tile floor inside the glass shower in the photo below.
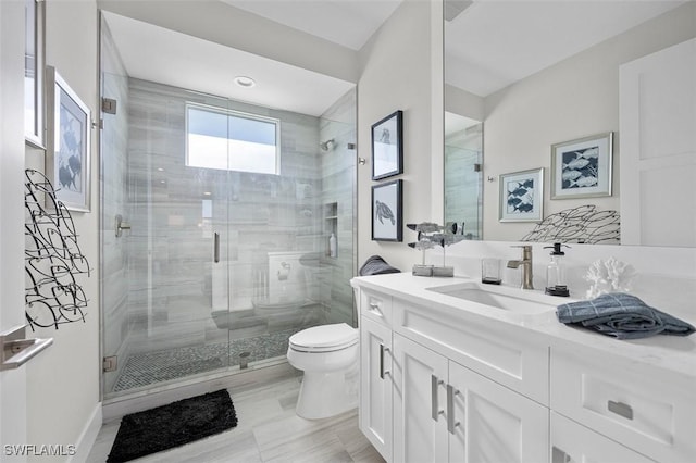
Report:
[[[297,329],[264,334],[202,346],[142,352],[127,358],[113,391],[140,388],[239,364],[239,354],[249,352],[247,362],[285,356],[288,338]]]

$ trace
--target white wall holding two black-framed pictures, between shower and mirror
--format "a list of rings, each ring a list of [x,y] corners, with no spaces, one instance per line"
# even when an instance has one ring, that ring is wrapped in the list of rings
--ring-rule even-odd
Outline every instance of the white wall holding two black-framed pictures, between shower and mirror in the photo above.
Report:
[[[358,82],[358,265],[373,254],[402,270],[420,259],[407,223],[443,220],[442,3],[405,0],[360,50]],[[372,241],[371,126],[403,111],[403,242]]]

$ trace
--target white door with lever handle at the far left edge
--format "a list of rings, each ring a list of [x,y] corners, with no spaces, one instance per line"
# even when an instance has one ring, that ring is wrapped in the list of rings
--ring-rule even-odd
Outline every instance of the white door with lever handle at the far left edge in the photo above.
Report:
[[[24,323],[24,2],[0,1],[0,331]],[[39,354],[39,356],[46,353]],[[0,372],[0,460],[26,442],[26,367]]]

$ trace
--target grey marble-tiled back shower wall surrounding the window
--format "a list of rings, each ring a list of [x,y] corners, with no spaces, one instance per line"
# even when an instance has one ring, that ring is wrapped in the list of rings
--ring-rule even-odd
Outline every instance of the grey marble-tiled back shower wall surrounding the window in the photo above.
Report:
[[[263,291],[257,276],[268,268],[268,252],[324,251],[320,121],[133,78],[129,93],[128,308],[142,322],[134,326],[134,349],[226,339],[211,317],[213,228],[223,242],[225,234],[234,237],[223,260],[235,311],[251,309],[251,297]],[[282,175],[186,166],[187,102],[279,118]]]

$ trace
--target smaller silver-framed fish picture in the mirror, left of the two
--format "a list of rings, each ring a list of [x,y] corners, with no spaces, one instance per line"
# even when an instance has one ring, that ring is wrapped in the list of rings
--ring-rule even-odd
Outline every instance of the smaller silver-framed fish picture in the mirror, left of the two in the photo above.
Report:
[[[500,175],[500,222],[544,218],[544,167]]]

